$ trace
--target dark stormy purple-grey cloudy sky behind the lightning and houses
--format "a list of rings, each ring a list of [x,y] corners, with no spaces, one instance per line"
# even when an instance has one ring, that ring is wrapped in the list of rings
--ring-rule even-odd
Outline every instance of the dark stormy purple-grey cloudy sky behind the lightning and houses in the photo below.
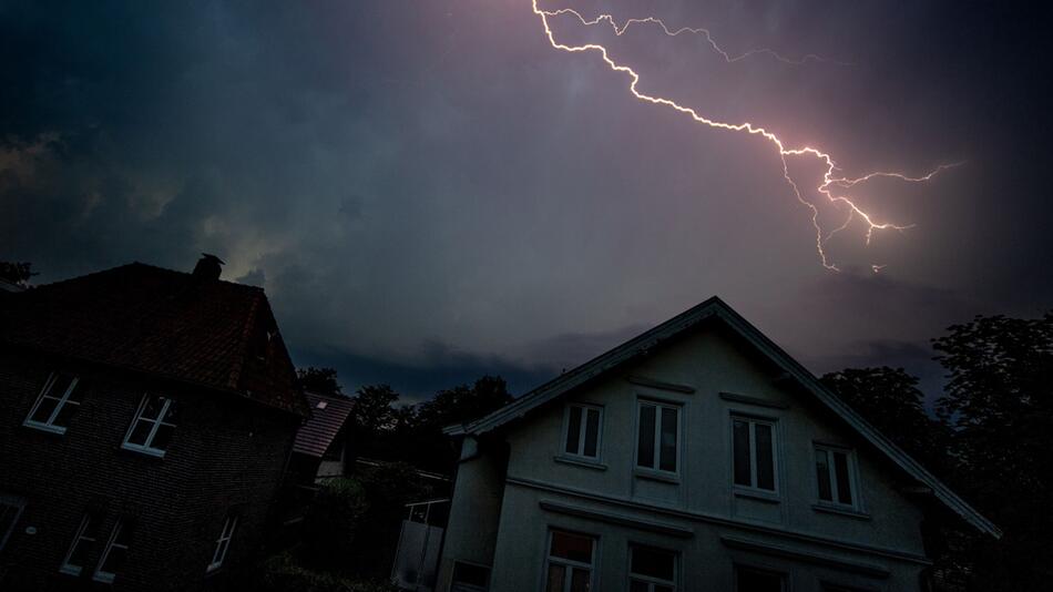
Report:
[[[849,176],[965,161],[868,185],[917,226],[842,233],[832,273],[770,144],[635,101],[553,50],[529,0],[0,0],[0,258],[47,283],[216,253],[347,390],[498,372],[520,394],[717,294],[816,372],[904,366],[934,391],[928,338],[1053,303],[1045,4],[543,4],[850,62],[727,64],[698,38],[553,20],[648,92]]]

